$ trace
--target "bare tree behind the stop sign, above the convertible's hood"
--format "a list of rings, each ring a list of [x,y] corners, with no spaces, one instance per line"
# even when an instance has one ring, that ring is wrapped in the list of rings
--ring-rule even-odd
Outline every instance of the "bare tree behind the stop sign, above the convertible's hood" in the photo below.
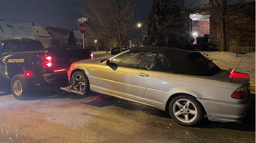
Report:
[[[77,8],[88,18],[87,25],[95,38],[113,41],[122,47],[135,25],[133,17],[141,0],[84,0],[83,6]],[[91,32],[91,31],[88,31]]]

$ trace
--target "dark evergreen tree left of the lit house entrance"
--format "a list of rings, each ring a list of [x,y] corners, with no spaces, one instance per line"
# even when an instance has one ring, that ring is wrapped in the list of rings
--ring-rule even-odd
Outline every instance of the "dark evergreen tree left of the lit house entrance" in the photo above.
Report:
[[[165,0],[154,0],[147,16],[144,44],[146,46],[166,46],[181,48],[181,45],[191,43],[192,37],[187,32],[189,22],[181,12],[176,0],[170,0],[171,6]]]

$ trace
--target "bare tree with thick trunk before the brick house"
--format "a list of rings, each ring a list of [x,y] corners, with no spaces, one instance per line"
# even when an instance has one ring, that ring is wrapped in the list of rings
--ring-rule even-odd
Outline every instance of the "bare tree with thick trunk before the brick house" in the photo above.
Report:
[[[245,5],[247,1],[248,0],[184,0],[182,6],[183,10],[198,14],[209,12],[211,17],[216,18],[219,30],[219,51],[226,51],[226,18],[234,14],[235,11],[248,9],[249,7]]]

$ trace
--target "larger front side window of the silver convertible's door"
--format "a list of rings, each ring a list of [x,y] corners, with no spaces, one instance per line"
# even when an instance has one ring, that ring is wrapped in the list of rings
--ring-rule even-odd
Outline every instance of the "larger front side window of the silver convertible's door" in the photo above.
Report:
[[[157,54],[153,52],[132,51],[113,58],[111,64],[127,68],[149,70],[156,56]]]

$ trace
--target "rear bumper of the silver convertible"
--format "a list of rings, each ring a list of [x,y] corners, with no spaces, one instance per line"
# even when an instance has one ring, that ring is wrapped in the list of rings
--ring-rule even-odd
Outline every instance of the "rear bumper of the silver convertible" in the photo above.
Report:
[[[206,111],[208,120],[217,122],[241,122],[251,102],[251,95],[242,103],[209,99],[197,99]]]

